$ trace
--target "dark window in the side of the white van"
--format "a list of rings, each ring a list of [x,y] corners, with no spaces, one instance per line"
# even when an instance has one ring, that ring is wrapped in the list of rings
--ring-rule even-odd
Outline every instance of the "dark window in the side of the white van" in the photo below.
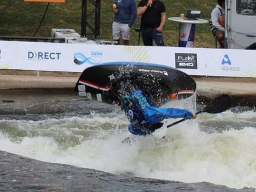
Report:
[[[237,0],[237,13],[241,15],[256,15],[256,0]]]

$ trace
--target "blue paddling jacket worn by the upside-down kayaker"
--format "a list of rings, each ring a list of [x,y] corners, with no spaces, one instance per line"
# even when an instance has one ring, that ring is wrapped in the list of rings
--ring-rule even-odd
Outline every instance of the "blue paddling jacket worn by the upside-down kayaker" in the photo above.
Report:
[[[177,108],[156,108],[149,104],[142,90],[123,97],[122,108],[131,123],[129,132],[137,135],[151,134],[160,128],[166,118],[192,118],[192,112]]]

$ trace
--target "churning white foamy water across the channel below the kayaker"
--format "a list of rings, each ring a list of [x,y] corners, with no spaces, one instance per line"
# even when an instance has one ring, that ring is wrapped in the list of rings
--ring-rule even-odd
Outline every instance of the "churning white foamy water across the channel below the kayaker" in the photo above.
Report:
[[[132,145],[121,143],[129,136],[123,113],[36,122],[1,120],[1,127],[8,126],[1,129],[0,150],[111,173],[256,188],[255,119],[253,111],[201,114],[197,120],[168,128],[163,140],[135,137]],[[200,130],[197,121],[225,125],[242,121],[251,126],[209,134]]]

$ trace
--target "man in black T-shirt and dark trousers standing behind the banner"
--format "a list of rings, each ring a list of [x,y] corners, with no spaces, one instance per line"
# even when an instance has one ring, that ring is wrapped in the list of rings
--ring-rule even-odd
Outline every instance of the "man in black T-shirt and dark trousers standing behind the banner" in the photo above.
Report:
[[[163,29],[166,21],[165,4],[160,0],[141,0],[137,15],[141,16],[141,36],[146,46],[165,46]]]

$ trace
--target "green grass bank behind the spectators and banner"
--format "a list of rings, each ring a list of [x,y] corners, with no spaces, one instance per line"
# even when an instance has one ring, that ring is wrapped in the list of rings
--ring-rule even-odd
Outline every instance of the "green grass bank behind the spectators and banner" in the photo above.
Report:
[[[111,26],[114,15],[114,0],[101,0],[100,38],[111,41]],[[137,0],[138,2],[139,0]],[[167,17],[179,17],[189,8],[202,10],[202,18],[210,19],[211,9],[217,0],[162,0],[165,3]],[[88,13],[91,2],[88,0]],[[47,3],[24,2],[23,0],[0,0],[0,36],[33,36],[46,10]],[[50,3],[45,19],[35,36],[50,37],[52,28],[74,29],[81,33],[82,0],[66,0],[65,3]],[[89,21],[94,26],[94,17]],[[137,45],[138,34],[135,28],[140,23],[137,17],[131,29],[131,45]],[[177,46],[179,24],[166,21],[164,36],[167,46]],[[90,33],[89,28],[86,29]],[[93,36],[88,36],[93,38]],[[141,45],[142,45],[141,41]],[[215,40],[210,32],[209,24],[196,25],[195,47],[214,48]]]

